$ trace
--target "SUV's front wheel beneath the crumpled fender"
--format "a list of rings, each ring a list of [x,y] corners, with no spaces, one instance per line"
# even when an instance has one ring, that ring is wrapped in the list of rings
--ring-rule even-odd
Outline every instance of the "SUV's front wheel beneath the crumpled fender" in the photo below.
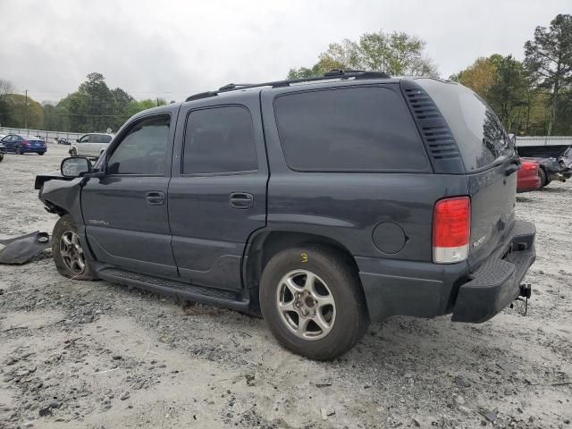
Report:
[[[78,228],[71,214],[65,214],[55,223],[52,233],[52,257],[57,271],[64,277],[76,280],[96,279],[88,261],[83,257]]]

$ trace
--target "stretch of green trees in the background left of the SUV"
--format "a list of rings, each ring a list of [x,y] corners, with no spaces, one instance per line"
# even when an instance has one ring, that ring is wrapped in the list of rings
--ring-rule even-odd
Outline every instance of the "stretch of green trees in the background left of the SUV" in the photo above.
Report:
[[[122,88],[110,89],[101,73],[89,73],[80,87],[56,104],[13,93],[13,85],[0,80],[0,123],[35,130],[93,132],[119,130],[123,122],[142,110],[165,105],[164,98],[136,100]]]

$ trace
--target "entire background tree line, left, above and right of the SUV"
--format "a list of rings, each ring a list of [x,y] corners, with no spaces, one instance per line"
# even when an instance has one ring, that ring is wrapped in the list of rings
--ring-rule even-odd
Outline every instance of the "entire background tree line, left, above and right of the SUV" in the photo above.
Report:
[[[423,39],[405,32],[365,33],[357,40],[332,43],[316,63],[292,68],[288,79],[321,76],[325,71],[385,71],[392,76],[430,76],[439,72],[425,53]],[[524,44],[524,60],[493,54],[449,77],[472,88],[517,135],[572,135],[572,15],[559,14],[538,26]],[[452,55],[453,53],[451,53]],[[62,130],[117,130],[132,114],[164,105],[164,99],[138,101],[122,88],[110,89],[100,73],[56,104],[13,93],[0,79],[0,123],[4,126]]]

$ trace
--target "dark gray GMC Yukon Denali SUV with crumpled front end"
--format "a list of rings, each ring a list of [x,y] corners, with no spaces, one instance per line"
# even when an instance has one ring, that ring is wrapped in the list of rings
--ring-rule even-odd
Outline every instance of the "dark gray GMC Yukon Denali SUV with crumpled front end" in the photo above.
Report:
[[[518,168],[471,90],[333,71],[141,112],[97,164],[64,159],[36,186],[63,275],[261,313],[331,359],[370,321],[480,323],[528,298]]]

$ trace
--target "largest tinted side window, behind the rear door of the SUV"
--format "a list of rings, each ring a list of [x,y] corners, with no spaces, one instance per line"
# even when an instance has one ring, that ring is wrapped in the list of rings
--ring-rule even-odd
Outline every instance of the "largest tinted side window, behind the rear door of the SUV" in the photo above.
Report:
[[[277,97],[286,161],[299,171],[419,171],[425,148],[400,94],[337,88]]]

